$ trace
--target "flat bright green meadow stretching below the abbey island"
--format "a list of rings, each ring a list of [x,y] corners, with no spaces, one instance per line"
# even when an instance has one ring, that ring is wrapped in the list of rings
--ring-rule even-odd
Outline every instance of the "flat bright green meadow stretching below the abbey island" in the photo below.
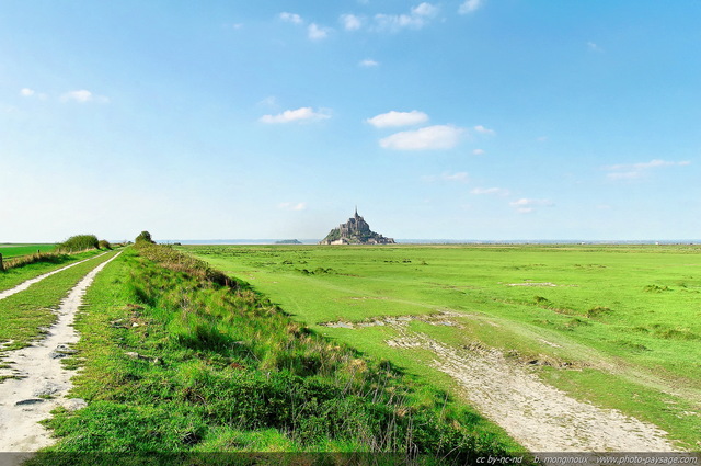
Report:
[[[312,328],[383,354],[439,386],[434,355],[388,348],[389,327],[329,321],[452,310],[460,328],[410,329],[453,346],[474,342],[532,366],[578,399],[701,437],[701,254],[698,247],[187,247],[250,280]]]

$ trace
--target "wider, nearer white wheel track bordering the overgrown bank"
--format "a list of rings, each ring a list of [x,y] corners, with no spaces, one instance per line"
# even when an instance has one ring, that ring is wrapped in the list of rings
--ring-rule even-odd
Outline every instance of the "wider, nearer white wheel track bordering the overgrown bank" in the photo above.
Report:
[[[79,339],[71,326],[85,291],[120,253],[97,265],[69,292],[46,339],[7,354],[4,362],[19,367],[22,378],[0,384],[0,452],[35,452],[51,444],[48,431],[37,422],[59,405],[67,409],[84,406],[82,400],[65,398],[73,373],[61,367],[60,359],[71,352],[69,345]]]

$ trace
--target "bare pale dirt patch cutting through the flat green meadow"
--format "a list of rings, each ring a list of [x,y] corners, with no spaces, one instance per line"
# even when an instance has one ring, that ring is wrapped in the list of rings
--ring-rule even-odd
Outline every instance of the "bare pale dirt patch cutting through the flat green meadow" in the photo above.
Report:
[[[330,327],[392,327],[394,348],[424,349],[435,354],[434,366],[450,375],[463,396],[531,452],[675,452],[659,428],[612,409],[570,397],[541,382],[526,367],[496,350],[456,349],[409,329],[421,319],[453,325],[450,315],[378,318],[368,323],[335,322]]]

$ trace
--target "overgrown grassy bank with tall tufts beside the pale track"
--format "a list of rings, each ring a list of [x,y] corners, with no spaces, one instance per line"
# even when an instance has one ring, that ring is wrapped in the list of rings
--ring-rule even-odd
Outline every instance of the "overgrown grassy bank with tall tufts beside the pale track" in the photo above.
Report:
[[[310,332],[248,285],[171,248],[125,250],[87,302],[68,363],[82,367],[71,395],[89,405],[48,422],[60,439],[50,450],[82,452],[73,459],[332,451],[464,464],[518,448],[447,394]]]

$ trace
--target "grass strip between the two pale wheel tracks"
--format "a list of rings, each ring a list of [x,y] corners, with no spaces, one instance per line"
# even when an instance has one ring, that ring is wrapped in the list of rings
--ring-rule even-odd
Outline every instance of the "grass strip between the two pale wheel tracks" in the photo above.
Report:
[[[68,292],[76,286],[88,272],[111,257],[112,254],[108,253],[93,258],[66,271],[48,276],[21,293],[1,299],[1,348],[3,350],[16,350],[31,344],[32,341],[39,338],[42,333],[56,321],[56,315],[53,309],[58,307]]]

